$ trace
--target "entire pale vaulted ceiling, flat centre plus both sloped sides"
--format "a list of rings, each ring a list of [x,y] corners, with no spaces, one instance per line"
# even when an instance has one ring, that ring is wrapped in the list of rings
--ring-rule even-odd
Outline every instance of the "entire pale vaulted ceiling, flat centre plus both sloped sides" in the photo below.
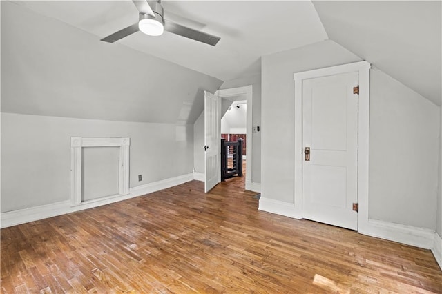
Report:
[[[2,111],[192,124],[202,91],[260,57],[332,39],[441,104],[441,1],[162,1],[169,32],[99,41],[137,21],[124,1],[1,1]],[[167,109],[167,112],[162,110]]]

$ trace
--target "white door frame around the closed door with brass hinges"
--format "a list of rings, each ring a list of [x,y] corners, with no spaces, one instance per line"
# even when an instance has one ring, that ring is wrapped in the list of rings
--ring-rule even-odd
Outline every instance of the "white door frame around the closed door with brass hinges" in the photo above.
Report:
[[[358,72],[358,231],[368,224],[368,172],[369,172],[369,70],[370,63],[360,61],[297,72],[294,74],[294,213],[302,218],[302,81],[316,77]]]

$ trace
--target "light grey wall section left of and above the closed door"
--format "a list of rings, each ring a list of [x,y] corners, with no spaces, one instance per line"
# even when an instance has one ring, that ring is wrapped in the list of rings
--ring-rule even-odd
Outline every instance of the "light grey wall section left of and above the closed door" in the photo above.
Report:
[[[262,197],[294,203],[294,72],[354,61],[333,41],[262,57]]]

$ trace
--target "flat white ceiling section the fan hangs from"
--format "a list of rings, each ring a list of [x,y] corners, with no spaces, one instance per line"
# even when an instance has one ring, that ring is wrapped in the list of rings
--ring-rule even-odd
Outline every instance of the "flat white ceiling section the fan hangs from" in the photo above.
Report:
[[[15,2],[90,32],[97,41],[138,19],[131,0]],[[165,0],[162,5],[164,19],[218,35],[220,42],[213,47],[169,32],[160,37],[136,32],[118,42],[223,81],[260,73],[262,55],[327,39],[311,1]]]

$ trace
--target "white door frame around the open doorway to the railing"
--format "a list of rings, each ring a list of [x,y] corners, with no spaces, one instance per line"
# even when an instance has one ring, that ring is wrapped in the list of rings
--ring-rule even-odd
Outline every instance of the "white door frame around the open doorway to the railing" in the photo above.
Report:
[[[229,88],[222,89],[215,92],[220,98],[227,98],[233,96],[244,95],[247,100],[247,126],[246,126],[246,153],[247,153],[247,164],[246,164],[246,190],[251,190],[251,171],[252,171],[252,142],[253,142],[253,133],[252,133],[252,114],[253,114],[253,86],[243,86],[238,88]],[[221,118],[220,118],[221,119]],[[221,169],[221,163],[219,170]],[[221,177],[221,175],[220,175]],[[220,178],[221,181],[221,178]]]

